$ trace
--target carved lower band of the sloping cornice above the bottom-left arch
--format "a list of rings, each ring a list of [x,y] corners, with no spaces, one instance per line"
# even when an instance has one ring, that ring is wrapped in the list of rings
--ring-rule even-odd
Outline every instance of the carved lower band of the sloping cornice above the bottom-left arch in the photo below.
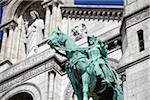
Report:
[[[15,76],[3,81],[0,83],[0,93],[4,92],[12,87],[17,86],[18,84],[24,83],[27,80],[38,76],[44,72],[57,72],[60,75],[64,75],[63,72],[60,71],[60,67],[54,61],[54,59],[50,59],[47,62],[43,62],[38,66],[33,66],[29,70],[26,70],[20,74],[16,74]]]

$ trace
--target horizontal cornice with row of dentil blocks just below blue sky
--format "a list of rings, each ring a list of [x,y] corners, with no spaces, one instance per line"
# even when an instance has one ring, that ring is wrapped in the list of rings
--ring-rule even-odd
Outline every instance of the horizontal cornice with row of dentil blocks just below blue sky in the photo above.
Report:
[[[123,7],[61,6],[66,18],[118,20],[123,16]]]

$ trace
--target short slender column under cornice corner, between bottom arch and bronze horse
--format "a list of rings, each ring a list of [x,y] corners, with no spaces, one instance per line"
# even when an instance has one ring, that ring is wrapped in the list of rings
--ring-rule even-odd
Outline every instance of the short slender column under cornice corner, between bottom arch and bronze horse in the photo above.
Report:
[[[54,100],[54,82],[55,82],[55,73],[50,72],[49,73],[49,94],[48,94],[48,100]]]

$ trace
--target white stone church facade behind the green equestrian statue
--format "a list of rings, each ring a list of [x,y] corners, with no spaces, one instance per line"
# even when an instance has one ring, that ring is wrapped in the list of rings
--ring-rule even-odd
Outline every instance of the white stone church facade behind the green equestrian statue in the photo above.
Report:
[[[66,58],[47,44],[57,27],[81,47],[91,35],[108,41],[108,60],[124,99],[150,100],[150,0],[124,0],[124,6],[74,5],[74,0],[1,3],[0,100],[76,100]],[[102,100],[112,100],[110,94]]]

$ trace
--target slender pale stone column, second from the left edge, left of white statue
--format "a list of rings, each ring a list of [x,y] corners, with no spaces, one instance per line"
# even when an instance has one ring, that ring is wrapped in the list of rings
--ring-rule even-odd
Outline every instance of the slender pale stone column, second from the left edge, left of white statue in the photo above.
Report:
[[[8,35],[8,42],[7,42],[7,49],[6,49],[6,59],[10,59],[11,56],[11,49],[12,49],[12,39],[14,33],[14,25],[11,23],[9,25],[9,35]]]

